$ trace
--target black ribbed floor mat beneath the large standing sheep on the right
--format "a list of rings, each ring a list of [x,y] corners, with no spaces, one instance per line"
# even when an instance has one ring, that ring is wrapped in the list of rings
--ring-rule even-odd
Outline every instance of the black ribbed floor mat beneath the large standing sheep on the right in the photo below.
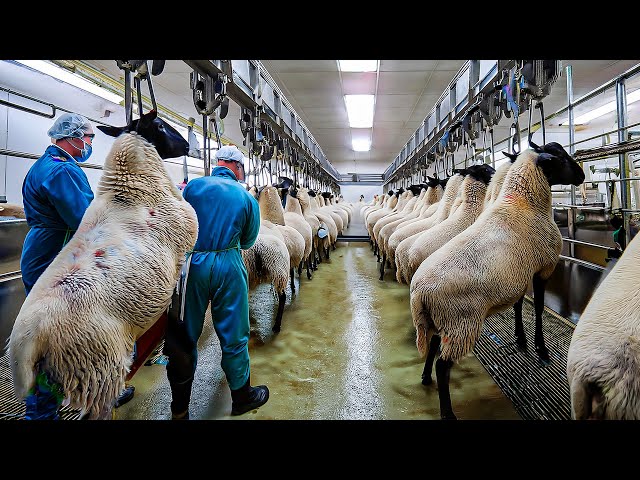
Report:
[[[551,359],[544,365],[535,353],[535,313],[528,298],[523,302],[522,323],[526,352],[515,344],[515,317],[509,308],[485,320],[474,354],[523,419],[570,420],[566,367],[574,326],[547,310],[543,312],[542,330]]]

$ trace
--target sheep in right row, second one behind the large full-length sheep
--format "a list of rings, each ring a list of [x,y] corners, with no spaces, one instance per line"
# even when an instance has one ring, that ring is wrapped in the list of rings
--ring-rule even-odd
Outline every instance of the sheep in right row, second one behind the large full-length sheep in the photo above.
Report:
[[[405,238],[398,244],[398,247],[395,250],[396,280],[398,283],[409,284],[411,280],[409,269],[409,249],[411,248],[411,245],[413,245],[413,242],[415,242],[425,231],[428,231],[431,227],[439,224],[449,217],[451,206],[458,195],[458,191],[460,190],[460,185],[462,185],[463,180],[464,177],[459,173],[450,177],[442,195],[442,200],[438,202],[438,207],[433,215],[420,222],[411,224],[413,231],[418,229],[419,231],[412,236]]]

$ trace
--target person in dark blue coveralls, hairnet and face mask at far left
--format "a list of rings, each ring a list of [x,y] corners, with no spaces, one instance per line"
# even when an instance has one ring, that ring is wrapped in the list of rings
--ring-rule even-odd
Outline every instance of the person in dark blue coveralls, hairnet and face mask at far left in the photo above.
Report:
[[[53,145],[31,166],[22,184],[24,214],[30,227],[20,258],[27,295],[73,237],[93,200],[87,175],[79,166],[92,152],[95,133],[89,121],[77,113],[63,113],[47,134]],[[126,386],[116,406],[129,401],[134,390],[132,385]],[[25,419],[58,419],[60,395],[55,384],[38,375],[34,391],[26,398]]]

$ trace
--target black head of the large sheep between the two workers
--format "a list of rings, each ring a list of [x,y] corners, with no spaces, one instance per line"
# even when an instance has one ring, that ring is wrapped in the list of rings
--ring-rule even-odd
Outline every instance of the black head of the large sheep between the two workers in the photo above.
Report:
[[[180,157],[189,152],[189,142],[175,128],[158,118],[155,110],[143,114],[124,127],[98,125],[98,130],[111,137],[136,132],[156,148],[162,159]]]

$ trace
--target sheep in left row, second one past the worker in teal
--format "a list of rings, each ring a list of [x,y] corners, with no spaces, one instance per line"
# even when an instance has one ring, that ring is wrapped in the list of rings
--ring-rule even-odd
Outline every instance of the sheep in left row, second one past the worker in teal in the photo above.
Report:
[[[284,237],[284,243],[289,251],[291,292],[295,293],[294,271],[302,264],[305,255],[305,239],[298,230],[285,224],[284,209],[276,187],[266,186],[259,191],[260,219],[275,224],[276,229]],[[301,219],[302,220],[302,219]],[[311,239],[309,239],[309,250]]]

